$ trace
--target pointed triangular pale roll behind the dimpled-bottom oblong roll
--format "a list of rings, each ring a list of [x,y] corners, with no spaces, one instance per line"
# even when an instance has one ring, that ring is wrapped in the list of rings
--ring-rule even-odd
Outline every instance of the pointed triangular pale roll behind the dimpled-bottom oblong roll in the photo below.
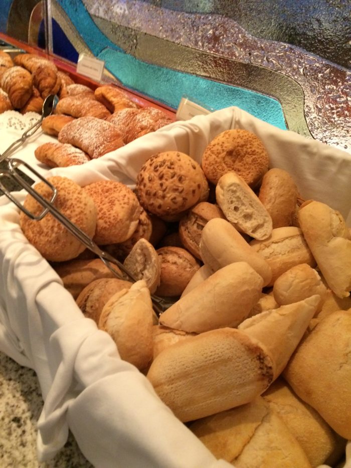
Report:
[[[319,304],[319,296],[251,317],[239,325],[239,330],[258,340],[268,350],[274,361],[274,378],[277,378],[295,351]]]

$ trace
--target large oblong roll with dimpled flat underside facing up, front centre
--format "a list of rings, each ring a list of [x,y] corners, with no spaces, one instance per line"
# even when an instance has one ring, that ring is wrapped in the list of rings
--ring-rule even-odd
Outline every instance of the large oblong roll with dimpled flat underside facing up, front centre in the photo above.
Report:
[[[147,378],[175,416],[192,421],[260,395],[272,381],[272,360],[256,340],[224,328],[164,349]]]

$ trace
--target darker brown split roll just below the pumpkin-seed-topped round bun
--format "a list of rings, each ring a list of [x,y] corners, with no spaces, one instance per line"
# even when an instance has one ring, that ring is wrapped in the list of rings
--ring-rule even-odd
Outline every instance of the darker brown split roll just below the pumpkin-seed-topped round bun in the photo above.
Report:
[[[183,245],[196,258],[201,258],[200,239],[205,224],[213,218],[224,218],[222,210],[215,204],[200,202],[191,208],[179,222],[179,234]]]

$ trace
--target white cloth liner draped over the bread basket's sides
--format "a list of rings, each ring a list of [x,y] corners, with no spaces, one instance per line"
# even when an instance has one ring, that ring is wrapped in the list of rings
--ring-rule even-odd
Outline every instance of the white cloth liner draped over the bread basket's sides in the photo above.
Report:
[[[98,160],[47,175],[82,186],[99,179],[133,186],[150,155],[177,149],[201,162],[208,142],[228,128],[255,132],[271,166],[289,171],[303,198],[328,203],[351,219],[350,154],[279,130],[236,107],[171,123]],[[25,160],[28,153],[16,156]],[[5,197],[0,198],[0,264],[0,350],[38,375],[45,401],[38,422],[40,460],[55,455],[70,428],[95,466],[232,466],[216,460],[159,400],[145,376],[119,358],[112,339],[83,317],[61,279],[27,242],[18,209]]]

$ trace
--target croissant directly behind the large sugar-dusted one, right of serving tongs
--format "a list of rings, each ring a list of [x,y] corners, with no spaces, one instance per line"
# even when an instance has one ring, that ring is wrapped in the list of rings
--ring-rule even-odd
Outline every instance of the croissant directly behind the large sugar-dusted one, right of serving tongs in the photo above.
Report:
[[[110,115],[110,111],[101,102],[85,94],[60,99],[56,106],[56,113],[72,115],[72,117],[96,117],[99,119]]]

